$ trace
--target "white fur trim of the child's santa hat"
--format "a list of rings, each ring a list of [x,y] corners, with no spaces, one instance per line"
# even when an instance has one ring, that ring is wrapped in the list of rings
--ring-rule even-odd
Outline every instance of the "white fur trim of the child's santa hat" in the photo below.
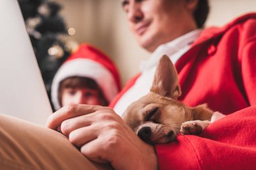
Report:
[[[69,60],[59,68],[53,79],[51,98],[55,110],[61,108],[58,101],[59,83],[67,77],[73,76],[94,79],[108,101],[111,101],[118,93],[118,87],[113,75],[98,62],[86,58]]]

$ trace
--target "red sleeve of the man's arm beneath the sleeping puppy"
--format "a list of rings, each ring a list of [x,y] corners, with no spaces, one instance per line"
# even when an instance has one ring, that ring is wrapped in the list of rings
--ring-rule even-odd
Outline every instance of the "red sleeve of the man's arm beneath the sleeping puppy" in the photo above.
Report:
[[[159,168],[255,169],[256,107],[210,124],[201,136],[178,136],[177,142],[156,145]]]

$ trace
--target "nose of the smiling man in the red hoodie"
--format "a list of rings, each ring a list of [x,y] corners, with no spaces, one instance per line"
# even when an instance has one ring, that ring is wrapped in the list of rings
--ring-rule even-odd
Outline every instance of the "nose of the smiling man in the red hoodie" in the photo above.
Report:
[[[143,12],[141,11],[139,3],[131,2],[127,13],[130,22],[137,23],[143,18]]]

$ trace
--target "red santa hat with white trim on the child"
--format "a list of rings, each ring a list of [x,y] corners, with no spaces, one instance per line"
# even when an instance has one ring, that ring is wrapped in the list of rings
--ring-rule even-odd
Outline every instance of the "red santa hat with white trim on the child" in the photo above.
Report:
[[[117,68],[108,56],[91,45],[81,44],[78,50],[61,65],[53,79],[51,98],[56,110],[61,108],[58,100],[59,85],[64,79],[73,76],[94,79],[108,102],[121,88]]]

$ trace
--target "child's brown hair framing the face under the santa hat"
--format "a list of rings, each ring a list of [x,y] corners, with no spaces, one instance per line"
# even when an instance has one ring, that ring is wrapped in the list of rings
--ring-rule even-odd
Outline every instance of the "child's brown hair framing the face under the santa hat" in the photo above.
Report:
[[[68,77],[63,81],[61,81],[61,83],[59,83],[59,89],[58,89],[58,100],[60,105],[62,105],[61,98],[63,95],[63,91],[64,89],[67,89],[67,88],[88,88],[88,89],[97,90],[98,98],[101,105],[104,105],[104,106],[108,105],[108,101],[106,100],[106,97],[104,96],[102,90],[100,89],[96,81],[94,81],[94,79],[90,79],[88,77],[75,76],[75,77]]]

